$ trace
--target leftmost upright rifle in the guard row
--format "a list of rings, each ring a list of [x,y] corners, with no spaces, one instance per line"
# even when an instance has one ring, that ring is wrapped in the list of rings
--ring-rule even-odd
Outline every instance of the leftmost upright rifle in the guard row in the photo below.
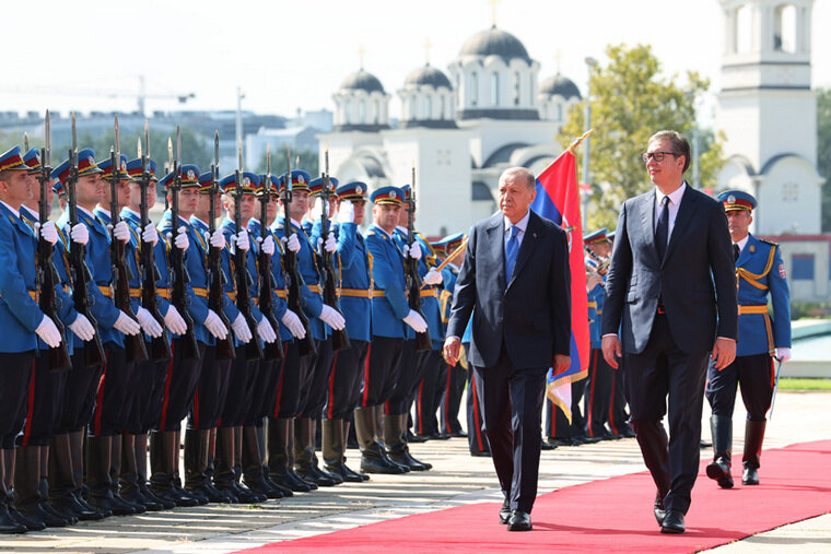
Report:
[[[51,156],[51,138],[49,137],[49,110],[46,110],[46,119],[44,122],[44,130],[46,135],[46,148],[40,149],[40,174],[37,179],[40,181],[40,200],[37,202],[37,219],[43,225],[49,221],[49,204],[47,202],[46,187],[51,181],[51,167],[49,167],[49,157]],[[28,137],[26,137],[28,142]],[[28,150],[28,144],[26,144]],[[60,332],[60,344],[54,349],[49,349],[49,369],[52,372],[60,372],[62,369],[69,369],[72,367],[72,362],[69,358],[69,349],[67,349],[67,334],[63,331],[63,326],[58,319],[58,306],[55,298],[55,284],[59,281],[55,266],[52,264],[52,252],[55,247],[39,235],[37,240],[37,281],[40,285],[40,311],[44,313],[49,319],[52,320],[55,327]]]

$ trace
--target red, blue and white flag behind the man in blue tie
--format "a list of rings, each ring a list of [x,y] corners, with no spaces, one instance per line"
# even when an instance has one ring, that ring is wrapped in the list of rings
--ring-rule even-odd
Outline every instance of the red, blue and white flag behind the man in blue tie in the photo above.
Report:
[[[569,238],[572,300],[571,367],[557,377],[553,376],[551,369],[548,370],[546,393],[571,422],[571,384],[586,377],[590,350],[580,189],[576,162],[571,150],[565,150],[560,154],[537,177],[537,198],[531,204],[531,210],[560,225]]]

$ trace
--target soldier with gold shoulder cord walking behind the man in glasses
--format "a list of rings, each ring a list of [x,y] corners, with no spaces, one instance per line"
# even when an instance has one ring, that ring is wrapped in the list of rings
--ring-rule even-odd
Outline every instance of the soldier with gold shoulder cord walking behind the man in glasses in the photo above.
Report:
[[[736,359],[722,370],[716,370],[711,362],[707,372],[706,397],[713,411],[710,425],[714,455],[706,472],[718,486],[730,488],[737,385],[747,410],[741,483],[759,484],[765,414],[776,386],[774,362],[791,359],[791,294],[779,245],[749,233],[756,199],[740,190],[727,190],[718,195],[718,200],[724,203],[736,257],[739,337]]]

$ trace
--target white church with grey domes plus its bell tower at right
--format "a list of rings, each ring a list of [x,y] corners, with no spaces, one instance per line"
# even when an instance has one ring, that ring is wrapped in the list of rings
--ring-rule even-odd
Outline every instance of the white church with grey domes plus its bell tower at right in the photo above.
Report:
[[[724,12],[716,126],[727,163],[713,187],[760,202],[752,232],[782,243],[794,300],[831,299],[831,236],[820,235],[817,98],[811,79],[814,0],[718,0]],[[370,189],[411,181],[418,227],[426,235],[466,229],[496,210],[496,181],[508,166],[539,173],[560,153],[553,138],[577,86],[553,75],[514,35],[495,25],[465,42],[447,73],[425,64],[396,94],[390,128],[382,82],[363,68],[335,93],[335,127],[318,135],[332,174]],[[321,160],[323,162],[323,160]]]

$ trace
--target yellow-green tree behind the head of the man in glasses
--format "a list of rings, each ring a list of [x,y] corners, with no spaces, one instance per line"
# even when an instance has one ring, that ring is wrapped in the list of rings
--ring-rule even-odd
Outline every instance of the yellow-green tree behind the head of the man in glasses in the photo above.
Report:
[[[660,129],[674,129],[690,139],[694,98],[710,85],[695,72],[687,73],[686,83],[679,83],[676,75],[662,76],[660,62],[649,46],[610,45],[606,55],[608,66],[596,67],[590,76],[594,187],[586,228],[615,227],[623,200],[652,187],[640,157],[649,137]],[[570,110],[569,122],[558,137],[563,146],[583,133],[583,109],[578,104]],[[724,164],[723,139],[704,132],[702,137],[711,138],[700,141],[699,157],[701,182],[710,186]],[[582,155],[581,149],[577,155]]]

